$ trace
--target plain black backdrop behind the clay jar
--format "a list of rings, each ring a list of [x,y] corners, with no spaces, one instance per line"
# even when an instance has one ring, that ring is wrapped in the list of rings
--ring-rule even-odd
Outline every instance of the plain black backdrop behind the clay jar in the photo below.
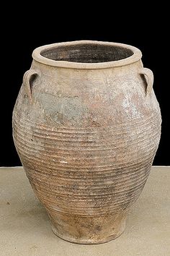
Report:
[[[12,109],[22,84],[22,76],[30,69],[32,51],[48,43],[69,40],[105,40],[140,48],[144,67],[154,73],[153,88],[163,119],[161,142],[154,164],[170,165],[169,27],[166,7],[154,6],[157,10],[148,9],[143,3],[144,7],[139,5],[133,10],[125,6],[104,7],[103,3],[98,11],[91,9],[87,2],[81,5],[74,12],[68,4],[63,4],[63,7],[45,4],[41,9],[35,9],[34,5],[30,9],[20,6],[17,11],[16,7],[12,11],[11,6],[11,13],[6,17],[9,25],[2,20],[1,63],[4,68],[1,67],[0,166],[21,165],[12,140]],[[113,12],[114,8],[117,15]]]

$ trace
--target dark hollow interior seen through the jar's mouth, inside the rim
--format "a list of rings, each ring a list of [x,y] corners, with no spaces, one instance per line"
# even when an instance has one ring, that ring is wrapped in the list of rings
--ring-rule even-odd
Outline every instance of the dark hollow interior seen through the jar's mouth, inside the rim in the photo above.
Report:
[[[42,51],[41,55],[54,61],[97,63],[125,59],[132,56],[133,51],[120,46],[89,43],[72,46],[56,46]]]

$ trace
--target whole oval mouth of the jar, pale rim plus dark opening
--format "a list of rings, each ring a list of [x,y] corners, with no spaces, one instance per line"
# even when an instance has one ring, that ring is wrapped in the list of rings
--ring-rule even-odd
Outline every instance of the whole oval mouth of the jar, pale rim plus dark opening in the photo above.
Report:
[[[80,40],[41,46],[32,56],[35,61],[54,67],[99,69],[138,61],[141,52],[122,43]]]

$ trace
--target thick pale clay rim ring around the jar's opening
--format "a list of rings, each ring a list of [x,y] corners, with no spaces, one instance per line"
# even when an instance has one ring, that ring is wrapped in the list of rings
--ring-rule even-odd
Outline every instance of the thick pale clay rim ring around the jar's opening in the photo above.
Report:
[[[133,51],[133,55],[125,58],[120,59],[118,61],[107,61],[107,62],[95,62],[95,63],[82,63],[82,62],[73,62],[73,61],[55,61],[53,59],[48,59],[41,55],[42,51],[48,50],[50,48],[56,48],[58,46],[77,46],[79,44],[99,44],[102,46],[120,46],[122,48],[128,48]],[[35,48],[32,53],[32,58],[40,62],[42,64],[52,66],[52,67],[64,67],[70,69],[105,69],[109,67],[122,67],[128,64],[132,64],[136,61],[139,61],[142,57],[141,51],[128,44],[124,43],[112,43],[112,42],[105,42],[105,41],[97,41],[97,40],[76,40],[70,42],[63,42],[63,43],[52,43],[45,46],[40,46]]]

